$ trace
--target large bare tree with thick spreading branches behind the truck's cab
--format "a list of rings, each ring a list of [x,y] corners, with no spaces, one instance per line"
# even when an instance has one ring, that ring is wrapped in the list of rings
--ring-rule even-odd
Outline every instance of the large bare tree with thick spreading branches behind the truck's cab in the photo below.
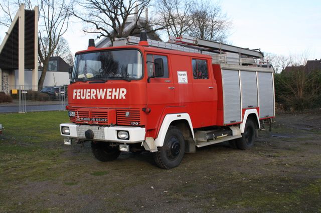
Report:
[[[149,3],[150,0],[78,0],[70,12],[87,23],[84,32],[95,33],[97,37],[107,36],[113,43],[116,37],[131,35],[146,27],[140,25],[139,17]],[[126,21],[132,17],[135,17],[134,27],[126,31]]]

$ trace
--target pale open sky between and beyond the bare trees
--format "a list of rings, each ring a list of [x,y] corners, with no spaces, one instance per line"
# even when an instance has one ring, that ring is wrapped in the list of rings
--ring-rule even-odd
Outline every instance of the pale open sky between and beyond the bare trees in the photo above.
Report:
[[[321,58],[321,0],[221,0],[222,11],[232,21],[228,38],[236,46],[283,55]],[[4,31],[0,30],[1,38]],[[86,49],[88,38],[80,22],[72,22],[64,35],[74,54]]]

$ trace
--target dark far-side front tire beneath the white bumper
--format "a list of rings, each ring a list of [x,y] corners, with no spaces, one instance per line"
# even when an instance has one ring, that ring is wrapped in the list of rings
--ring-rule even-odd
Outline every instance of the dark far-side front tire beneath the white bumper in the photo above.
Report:
[[[108,142],[91,142],[91,150],[94,156],[103,162],[117,159],[120,154],[119,147],[111,147]]]

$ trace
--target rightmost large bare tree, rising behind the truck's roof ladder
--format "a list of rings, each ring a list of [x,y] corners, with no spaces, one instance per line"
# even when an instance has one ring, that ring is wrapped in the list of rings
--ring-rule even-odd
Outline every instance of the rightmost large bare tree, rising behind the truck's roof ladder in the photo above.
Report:
[[[221,6],[211,0],[194,3],[191,11],[190,35],[208,40],[226,42],[231,22],[222,12]]]

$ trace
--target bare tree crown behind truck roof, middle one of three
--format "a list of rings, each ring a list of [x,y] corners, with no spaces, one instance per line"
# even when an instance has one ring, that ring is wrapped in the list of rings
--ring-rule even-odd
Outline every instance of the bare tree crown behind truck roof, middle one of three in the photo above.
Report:
[[[158,0],[157,14],[168,36],[188,34],[193,24],[192,0]]]

